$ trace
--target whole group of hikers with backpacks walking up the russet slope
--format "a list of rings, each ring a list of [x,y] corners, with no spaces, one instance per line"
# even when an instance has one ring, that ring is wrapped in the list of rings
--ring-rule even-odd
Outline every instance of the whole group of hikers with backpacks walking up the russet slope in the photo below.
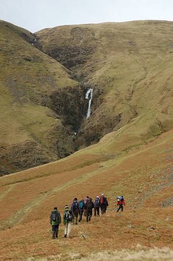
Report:
[[[123,205],[125,205],[125,200],[123,196],[117,197],[117,212],[120,210],[123,211]],[[77,222],[82,221],[82,216],[86,217],[86,222],[91,221],[94,208],[94,216],[104,215],[106,213],[108,206],[108,201],[105,195],[102,193],[101,197],[97,196],[93,202],[92,198],[87,196],[80,201],[77,198],[73,199],[71,207],[65,205],[65,211],[63,214],[63,223],[65,225],[64,237],[70,237],[70,231],[73,225],[77,225]],[[78,219],[79,217],[79,219]],[[50,214],[50,224],[52,225],[52,239],[58,237],[59,225],[61,224],[61,215],[57,211],[57,207],[54,207],[54,210]]]

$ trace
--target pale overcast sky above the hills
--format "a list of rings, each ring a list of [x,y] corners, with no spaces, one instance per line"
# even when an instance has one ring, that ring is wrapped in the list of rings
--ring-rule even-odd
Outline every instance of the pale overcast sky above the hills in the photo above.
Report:
[[[0,0],[0,19],[31,32],[64,24],[173,20],[173,0]]]

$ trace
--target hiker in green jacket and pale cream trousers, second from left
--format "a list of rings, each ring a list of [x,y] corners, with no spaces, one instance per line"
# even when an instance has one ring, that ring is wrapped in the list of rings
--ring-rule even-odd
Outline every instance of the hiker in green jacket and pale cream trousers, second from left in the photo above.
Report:
[[[73,222],[73,212],[69,210],[68,205],[65,205],[65,211],[63,216],[63,223],[65,225],[65,231],[64,231],[64,237],[68,238],[70,237],[70,231],[72,227]]]

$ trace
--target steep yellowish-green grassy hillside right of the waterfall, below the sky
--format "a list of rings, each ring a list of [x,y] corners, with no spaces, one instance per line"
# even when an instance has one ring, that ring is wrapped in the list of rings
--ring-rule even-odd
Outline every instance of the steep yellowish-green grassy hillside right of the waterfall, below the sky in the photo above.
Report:
[[[132,21],[68,25],[36,33],[46,54],[94,89],[92,116],[82,123],[81,146],[127,126],[114,141],[145,144],[172,128],[173,23]],[[126,141],[125,141],[125,140]]]

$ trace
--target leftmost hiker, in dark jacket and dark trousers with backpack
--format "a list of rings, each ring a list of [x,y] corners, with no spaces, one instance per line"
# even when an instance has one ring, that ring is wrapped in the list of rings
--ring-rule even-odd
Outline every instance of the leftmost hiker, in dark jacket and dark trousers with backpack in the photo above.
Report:
[[[61,215],[60,212],[57,211],[56,206],[50,214],[50,224],[52,225],[52,239],[55,239],[55,237],[58,237],[59,225],[61,224]]]

